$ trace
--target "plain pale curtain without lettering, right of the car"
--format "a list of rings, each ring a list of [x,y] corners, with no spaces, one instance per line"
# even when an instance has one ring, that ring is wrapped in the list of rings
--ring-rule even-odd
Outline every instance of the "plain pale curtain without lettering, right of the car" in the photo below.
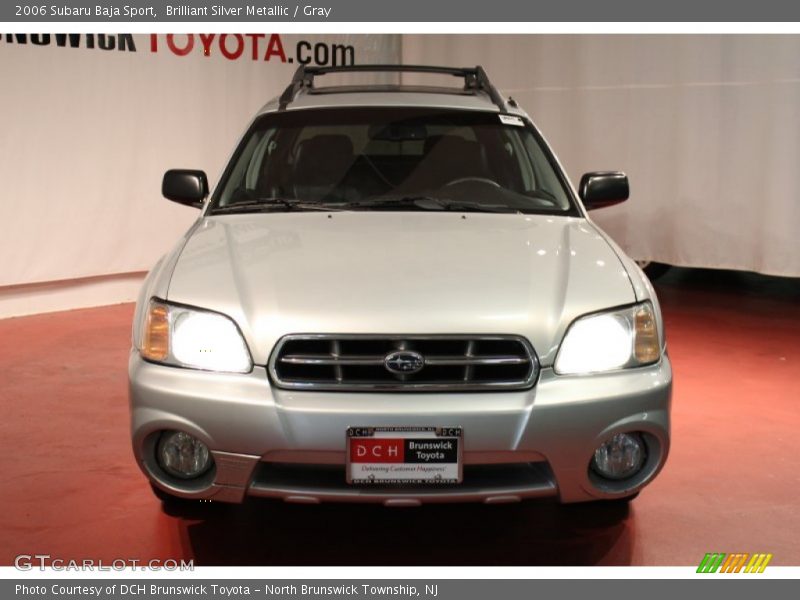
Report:
[[[635,258],[800,276],[800,36],[403,36],[407,63],[482,64]]]

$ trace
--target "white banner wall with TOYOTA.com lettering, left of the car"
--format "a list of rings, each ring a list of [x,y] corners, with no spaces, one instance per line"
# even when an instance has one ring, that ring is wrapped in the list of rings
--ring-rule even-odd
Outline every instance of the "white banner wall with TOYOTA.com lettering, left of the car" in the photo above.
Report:
[[[149,269],[197,217],[161,197],[164,171],[204,169],[213,185],[255,111],[288,84],[298,41],[352,44],[356,62],[399,55],[399,36],[282,35],[287,62],[274,47],[264,61],[269,37],[258,60],[249,38],[231,60],[219,36],[208,56],[198,36],[184,56],[164,35],[157,52],[149,35],[134,36],[136,52],[3,36],[0,288]]]

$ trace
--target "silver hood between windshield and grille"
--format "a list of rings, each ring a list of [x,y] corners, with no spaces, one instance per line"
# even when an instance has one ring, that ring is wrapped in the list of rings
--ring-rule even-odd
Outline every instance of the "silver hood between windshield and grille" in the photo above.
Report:
[[[289,333],[517,334],[543,365],[577,316],[635,301],[572,217],[298,212],[202,219],[168,299],[239,324],[256,364]]]

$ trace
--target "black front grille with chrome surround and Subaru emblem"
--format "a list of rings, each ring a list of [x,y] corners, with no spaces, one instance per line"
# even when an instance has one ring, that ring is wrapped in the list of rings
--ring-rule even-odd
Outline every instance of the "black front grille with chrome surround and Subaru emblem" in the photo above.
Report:
[[[339,391],[527,389],[538,367],[528,341],[507,335],[289,335],[269,364],[278,387]]]

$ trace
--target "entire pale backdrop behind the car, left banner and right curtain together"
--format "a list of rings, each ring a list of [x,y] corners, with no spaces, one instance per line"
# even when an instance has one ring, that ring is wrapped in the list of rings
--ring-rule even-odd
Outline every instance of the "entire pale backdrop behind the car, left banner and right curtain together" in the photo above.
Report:
[[[296,66],[261,60],[265,40],[229,60],[218,40],[178,56],[134,37],[135,53],[0,41],[0,292],[148,269],[196,216],[161,197],[163,171],[213,184]],[[632,199],[594,215],[636,258],[800,275],[800,36],[281,39],[289,58],[307,39],[360,63],[483,64],[574,181],[630,175]]]

